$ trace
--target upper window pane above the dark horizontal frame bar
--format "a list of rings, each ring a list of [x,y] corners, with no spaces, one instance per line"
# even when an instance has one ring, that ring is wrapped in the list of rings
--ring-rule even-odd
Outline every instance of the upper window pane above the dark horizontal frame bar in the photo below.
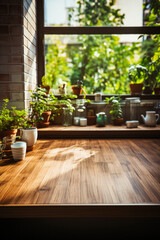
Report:
[[[45,0],[44,3],[45,26],[143,26],[143,0]]]

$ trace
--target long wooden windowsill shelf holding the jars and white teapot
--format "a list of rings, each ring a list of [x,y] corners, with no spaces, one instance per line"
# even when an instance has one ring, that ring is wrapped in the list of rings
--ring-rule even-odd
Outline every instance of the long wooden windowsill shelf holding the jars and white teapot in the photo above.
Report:
[[[93,126],[50,126],[48,128],[38,129],[39,138],[75,138],[75,137],[124,137],[124,138],[145,138],[145,137],[160,137],[160,125],[156,127],[146,127],[140,125],[137,128],[127,128],[123,126],[106,125],[105,127]]]

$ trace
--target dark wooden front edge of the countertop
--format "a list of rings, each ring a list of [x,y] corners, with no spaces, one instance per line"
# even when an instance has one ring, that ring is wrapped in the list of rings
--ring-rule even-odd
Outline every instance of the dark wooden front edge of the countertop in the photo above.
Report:
[[[160,218],[160,204],[0,205],[0,218]]]

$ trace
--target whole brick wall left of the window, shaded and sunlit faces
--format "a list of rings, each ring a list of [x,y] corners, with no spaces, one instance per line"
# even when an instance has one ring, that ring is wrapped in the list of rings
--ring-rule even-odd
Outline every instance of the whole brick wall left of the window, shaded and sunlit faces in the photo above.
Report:
[[[36,0],[1,0],[0,105],[27,108],[36,83]]]

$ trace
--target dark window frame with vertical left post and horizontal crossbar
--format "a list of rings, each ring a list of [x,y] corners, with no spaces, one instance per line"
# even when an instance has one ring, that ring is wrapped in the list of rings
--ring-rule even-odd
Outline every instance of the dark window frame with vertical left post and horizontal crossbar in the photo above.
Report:
[[[160,26],[134,26],[134,27],[97,27],[97,26],[45,26],[44,25],[44,0],[37,0],[37,70],[38,85],[45,74],[44,37],[53,35],[80,35],[80,34],[160,34]]]

